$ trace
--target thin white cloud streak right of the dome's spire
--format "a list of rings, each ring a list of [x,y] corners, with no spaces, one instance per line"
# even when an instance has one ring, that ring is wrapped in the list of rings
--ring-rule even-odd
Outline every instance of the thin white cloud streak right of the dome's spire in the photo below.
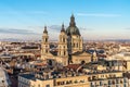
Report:
[[[78,16],[94,16],[94,17],[119,17],[120,14],[105,14],[105,13],[77,13]]]

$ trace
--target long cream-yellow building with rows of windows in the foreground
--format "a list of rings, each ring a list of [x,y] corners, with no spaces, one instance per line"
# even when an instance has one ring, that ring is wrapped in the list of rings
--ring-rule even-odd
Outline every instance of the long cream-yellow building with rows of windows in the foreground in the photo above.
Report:
[[[129,87],[122,72],[96,72],[41,76],[23,74],[18,76],[18,87]]]

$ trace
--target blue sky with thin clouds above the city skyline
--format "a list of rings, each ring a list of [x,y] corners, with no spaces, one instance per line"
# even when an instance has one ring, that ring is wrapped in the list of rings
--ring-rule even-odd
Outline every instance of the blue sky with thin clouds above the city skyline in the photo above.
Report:
[[[0,39],[58,39],[72,14],[83,39],[130,39],[130,0],[0,0]]]

